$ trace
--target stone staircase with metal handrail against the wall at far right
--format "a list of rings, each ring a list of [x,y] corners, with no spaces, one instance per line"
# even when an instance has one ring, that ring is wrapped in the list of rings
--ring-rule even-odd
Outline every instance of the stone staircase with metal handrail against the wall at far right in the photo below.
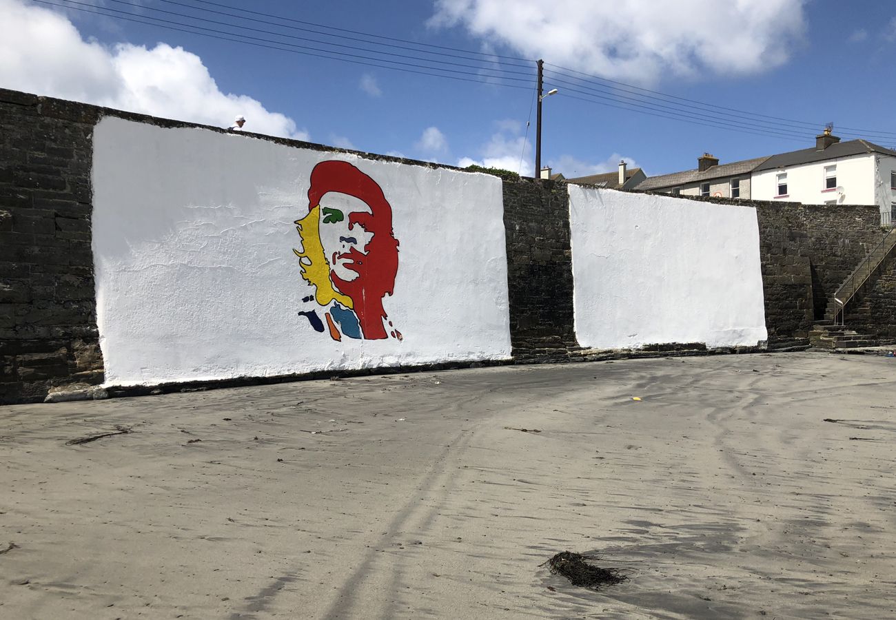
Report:
[[[857,295],[867,286],[874,285],[883,263],[886,263],[896,255],[896,228],[889,230],[882,238],[881,243],[874,247],[868,255],[862,259],[855,271],[849,274],[846,280],[837,288],[824,310],[824,319],[814,323],[809,332],[809,342],[814,347],[823,349],[855,349],[857,347],[876,347],[889,344],[890,341],[878,340],[876,336],[868,333],[860,333],[849,327],[838,324],[843,323],[843,316],[849,308],[850,323],[855,325],[868,325],[870,320],[863,317],[870,314],[871,308],[866,303],[857,303]],[[840,303],[838,303],[838,301]]]

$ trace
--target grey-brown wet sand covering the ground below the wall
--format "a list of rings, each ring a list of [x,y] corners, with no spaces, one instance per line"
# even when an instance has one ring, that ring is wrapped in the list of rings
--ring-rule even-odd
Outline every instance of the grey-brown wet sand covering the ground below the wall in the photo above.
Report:
[[[896,618],[894,395],[794,353],[0,408],[0,617]]]

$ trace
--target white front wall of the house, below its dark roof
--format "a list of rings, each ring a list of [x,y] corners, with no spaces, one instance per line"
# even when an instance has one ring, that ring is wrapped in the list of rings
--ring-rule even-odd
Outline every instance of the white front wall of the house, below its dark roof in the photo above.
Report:
[[[824,204],[838,200],[838,193],[824,191],[824,168],[837,166],[837,185],[843,188],[840,204],[877,204],[874,195],[875,162],[874,154],[856,155],[849,158],[827,159],[802,166],[790,166],[776,170],[754,172],[752,195],[754,200],[802,202],[803,204]],[[779,197],[778,177],[787,172],[788,195]],[[887,184],[889,187],[889,172]]]

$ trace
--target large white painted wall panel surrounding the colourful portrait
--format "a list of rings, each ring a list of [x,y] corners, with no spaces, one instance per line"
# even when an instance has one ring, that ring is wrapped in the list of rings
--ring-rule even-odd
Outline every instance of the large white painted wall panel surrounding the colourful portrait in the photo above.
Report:
[[[502,185],[489,175],[107,117],[93,154],[93,253],[107,385],[510,357]],[[403,340],[332,340],[297,315],[293,223],[309,174],[351,162],[400,243]]]

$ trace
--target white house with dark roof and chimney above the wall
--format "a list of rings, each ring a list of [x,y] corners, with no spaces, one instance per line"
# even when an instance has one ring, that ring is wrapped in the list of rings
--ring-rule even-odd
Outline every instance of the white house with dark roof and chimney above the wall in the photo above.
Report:
[[[825,131],[814,149],[772,155],[751,174],[754,200],[876,204],[881,223],[896,215],[896,151]]]

